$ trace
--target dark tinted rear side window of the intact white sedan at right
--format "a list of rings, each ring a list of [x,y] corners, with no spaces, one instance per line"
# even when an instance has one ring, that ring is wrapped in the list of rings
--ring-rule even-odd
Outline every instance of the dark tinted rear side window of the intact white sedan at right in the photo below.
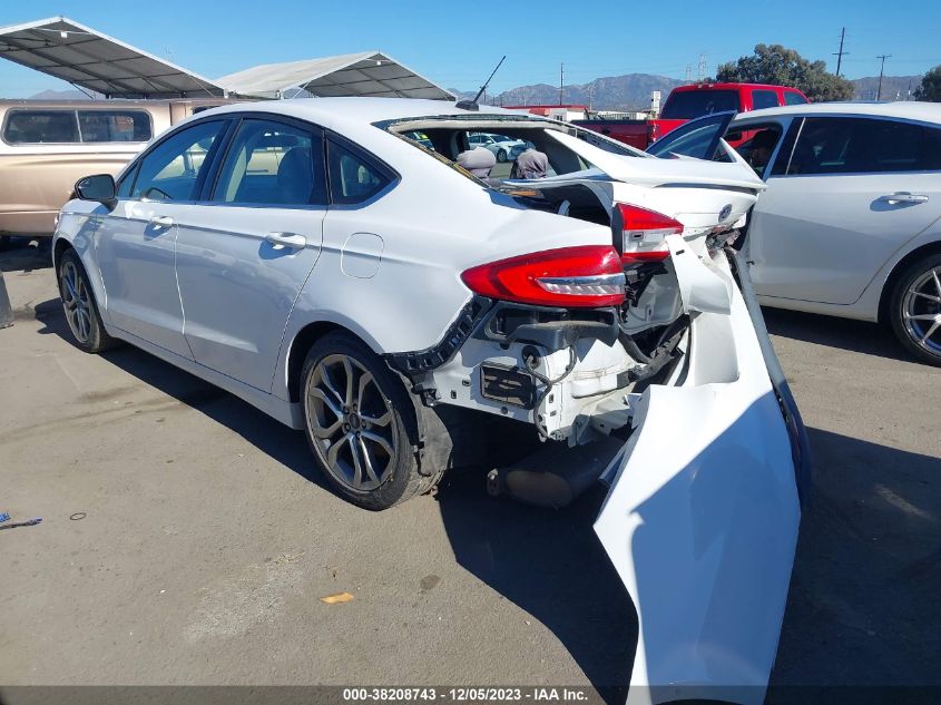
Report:
[[[788,175],[941,169],[941,130],[901,120],[806,118]]]

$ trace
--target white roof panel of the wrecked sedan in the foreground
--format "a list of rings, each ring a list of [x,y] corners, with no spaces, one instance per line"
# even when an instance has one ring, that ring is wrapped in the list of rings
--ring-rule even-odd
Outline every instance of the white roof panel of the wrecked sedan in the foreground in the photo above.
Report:
[[[480,110],[459,108],[450,100],[423,100],[418,98],[294,98],[290,100],[265,100],[261,102],[243,102],[222,108],[214,108],[200,112],[206,115],[224,115],[226,112],[251,110],[253,112],[273,112],[308,120],[324,127],[349,126],[350,124],[373,124],[382,120],[400,120],[406,118],[422,118],[434,116],[514,116],[520,112],[480,106]],[[536,115],[527,116],[540,120]]]

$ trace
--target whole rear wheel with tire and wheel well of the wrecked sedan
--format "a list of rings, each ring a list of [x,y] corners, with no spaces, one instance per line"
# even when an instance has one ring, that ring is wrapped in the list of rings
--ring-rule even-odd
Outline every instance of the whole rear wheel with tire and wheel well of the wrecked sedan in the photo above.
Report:
[[[307,442],[342,497],[380,510],[430,489],[437,477],[420,472],[410,440],[416,405],[356,337],[337,331],[313,344],[301,372],[301,394]]]

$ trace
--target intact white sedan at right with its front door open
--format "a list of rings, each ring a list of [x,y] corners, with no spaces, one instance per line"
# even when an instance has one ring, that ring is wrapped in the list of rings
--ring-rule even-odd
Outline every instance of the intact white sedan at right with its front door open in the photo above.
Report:
[[[722,119],[648,151],[705,156]],[[761,303],[889,323],[941,365],[941,105],[770,108],[736,116],[725,137],[767,184],[745,244]]]

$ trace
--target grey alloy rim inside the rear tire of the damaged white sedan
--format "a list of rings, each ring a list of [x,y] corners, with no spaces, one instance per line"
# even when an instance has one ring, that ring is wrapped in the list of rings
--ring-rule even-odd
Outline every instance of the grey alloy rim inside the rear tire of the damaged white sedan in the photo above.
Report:
[[[307,378],[307,428],[327,471],[357,492],[389,479],[396,458],[396,421],[372,373],[355,358],[327,355]]]

